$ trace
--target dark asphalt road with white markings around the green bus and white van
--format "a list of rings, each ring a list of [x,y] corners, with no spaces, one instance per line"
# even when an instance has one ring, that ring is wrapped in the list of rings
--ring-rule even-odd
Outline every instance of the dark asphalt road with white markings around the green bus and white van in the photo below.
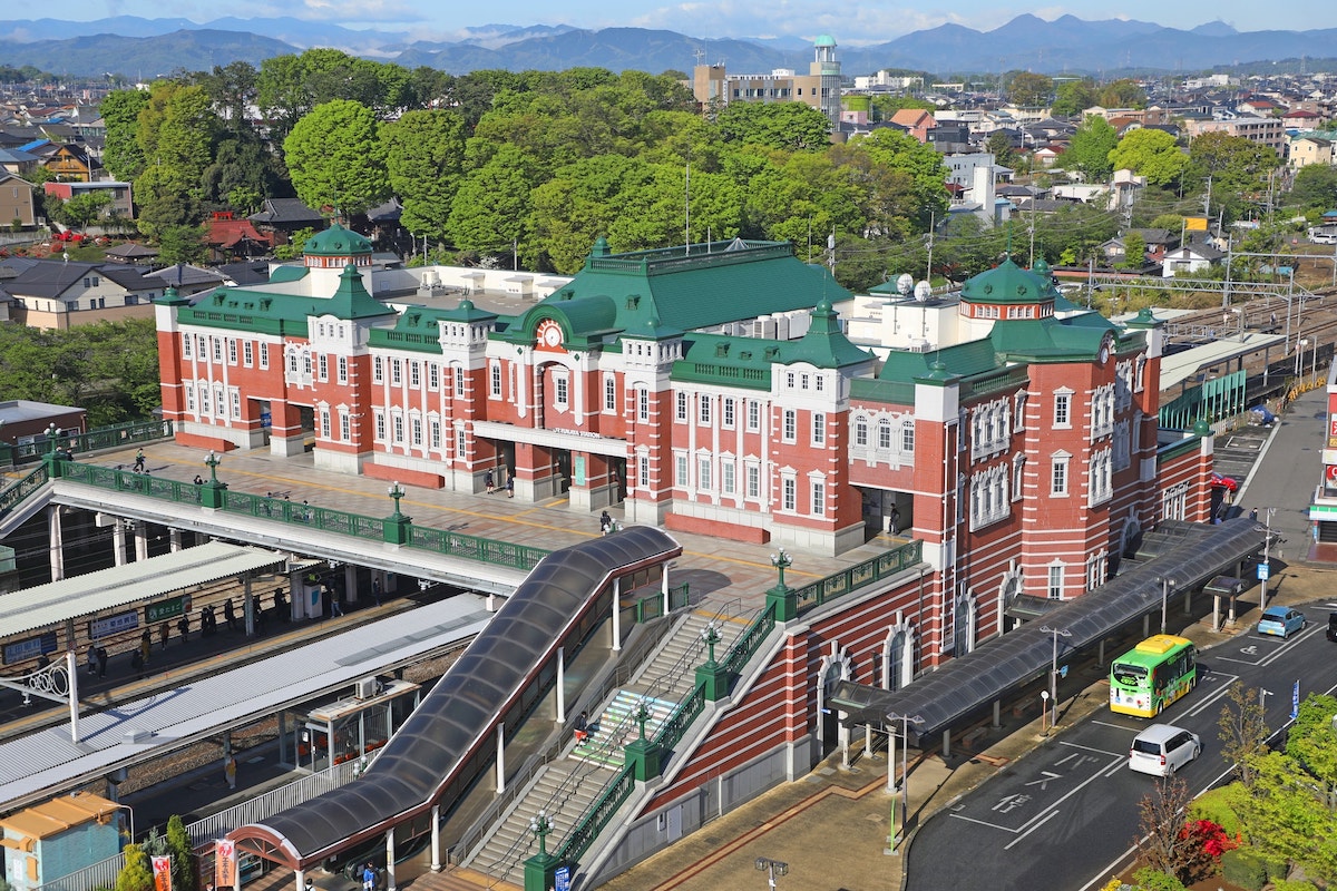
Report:
[[[1158,719],[1202,737],[1202,756],[1179,771],[1193,795],[1230,772],[1217,719],[1233,684],[1271,693],[1265,700],[1274,731],[1289,721],[1296,680],[1301,696],[1337,688],[1337,644],[1324,637],[1330,609],[1337,602],[1304,606],[1309,627],[1289,641],[1250,633],[1203,653],[1207,671],[1197,689]],[[1127,765],[1132,737],[1150,723],[1103,708],[1001,771],[920,830],[906,888],[1098,886],[1128,854],[1138,803],[1155,788],[1155,777]]]

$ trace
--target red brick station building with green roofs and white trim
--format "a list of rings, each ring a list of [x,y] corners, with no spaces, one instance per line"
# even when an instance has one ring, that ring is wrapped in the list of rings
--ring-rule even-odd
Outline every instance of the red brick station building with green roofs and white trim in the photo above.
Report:
[[[384,267],[336,224],[265,286],[168,293],[164,417],[202,449],[314,435],[320,468],[513,477],[627,524],[828,554],[917,538],[932,618],[893,610],[919,664],[892,688],[1007,631],[1009,598],[1079,597],[1142,529],[1210,517],[1211,437],[1158,430],[1161,323],[1074,306],[1043,262],[856,297],[787,243],[599,239],[572,278],[489,275]]]

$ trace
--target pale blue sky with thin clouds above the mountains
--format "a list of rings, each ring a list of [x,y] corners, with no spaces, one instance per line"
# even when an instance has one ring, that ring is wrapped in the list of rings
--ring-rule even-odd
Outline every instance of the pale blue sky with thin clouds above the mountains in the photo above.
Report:
[[[218,16],[265,17],[286,15],[313,17],[352,28],[412,29],[427,40],[449,40],[461,27],[487,24],[570,24],[579,28],[614,25],[664,28],[695,37],[774,37],[810,39],[829,33],[842,44],[881,43],[912,31],[956,23],[980,31],[996,28],[1012,17],[1032,12],[1054,20],[1071,13],[1079,19],[1138,19],[1174,28],[1193,28],[1221,20],[1238,31],[1266,28],[1334,28],[1337,4],[1304,4],[1304,16],[1278,20],[1280,9],[1296,7],[1258,0],[1215,0],[1214,3],[1165,3],[1131,0],[1072,0],[1062,5],[1004,5],[996,0],[932,0],[925,5],[905,3],[849,3],[842,0],[491,0],[477,7],[459,0],[178,0],[164,7],[160,0],[94,0],[44,11],[57,19],[100,19],[115,15],[144,17],[180,16],[209,21]],[[763,11],[765,15],[758,15]],[[11,13],[12,15],[12,13]]]

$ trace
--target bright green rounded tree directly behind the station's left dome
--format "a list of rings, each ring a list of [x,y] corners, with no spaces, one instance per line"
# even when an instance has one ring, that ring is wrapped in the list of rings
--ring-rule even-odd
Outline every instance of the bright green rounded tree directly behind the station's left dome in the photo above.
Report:
[[[283,140],[293,188],[309,207],[362,214],[390,195],[385,146],[366,106],[336,99],[317,106]]]

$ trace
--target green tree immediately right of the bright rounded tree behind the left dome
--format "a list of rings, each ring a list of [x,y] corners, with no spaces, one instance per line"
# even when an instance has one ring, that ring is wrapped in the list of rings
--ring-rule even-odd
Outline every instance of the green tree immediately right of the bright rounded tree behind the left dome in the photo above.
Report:
[[[404,204],[400,223],[440,239],[464,163],[464,118],[456,111],[409,111],[381,126],[385,167]]]

